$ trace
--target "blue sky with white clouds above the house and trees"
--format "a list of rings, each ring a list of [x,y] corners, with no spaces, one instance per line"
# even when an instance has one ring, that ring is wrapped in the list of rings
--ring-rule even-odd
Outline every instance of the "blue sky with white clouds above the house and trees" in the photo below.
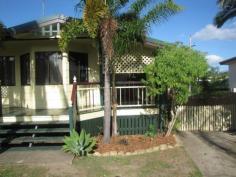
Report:
[[[7,27],[43,17],[43,0],[0,0],[0,21]],[[45,16],[64,14],[78,17],[74,5],[78,0],[44,0]],[[153,0],[156,2],[158,0]],[[167,42],[182,42],[206,54],[211,66],[227,71],[219,62],[236,56],[236,20],[222,28],[213,25],[218,12],[216,0],[175,0],[183,11],[151,26],[148,36]]]

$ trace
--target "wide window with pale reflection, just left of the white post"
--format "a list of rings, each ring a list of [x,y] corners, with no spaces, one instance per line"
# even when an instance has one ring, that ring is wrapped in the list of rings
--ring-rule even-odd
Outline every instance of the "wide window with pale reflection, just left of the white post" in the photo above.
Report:
[[[36,52],[36,84],[62,84],[62,55],[60,52]]]

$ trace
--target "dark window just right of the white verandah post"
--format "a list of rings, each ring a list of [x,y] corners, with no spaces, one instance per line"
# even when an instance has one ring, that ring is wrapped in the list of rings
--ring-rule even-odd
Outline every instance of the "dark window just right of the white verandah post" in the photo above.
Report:
[[[78,82],[88,82],[88,54],[70,52],[69,62],[70,83],[73,83],[74,76]]]

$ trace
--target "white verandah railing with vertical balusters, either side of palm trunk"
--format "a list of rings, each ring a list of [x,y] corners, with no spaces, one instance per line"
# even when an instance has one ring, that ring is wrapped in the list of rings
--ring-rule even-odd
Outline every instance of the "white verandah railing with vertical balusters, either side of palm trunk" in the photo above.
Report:
[[[154,97],[148,95],[145,86],[116,87],[117,107],[149,107],[155,105]],[[80,111],[101,109],[103,107],[103,88],[77,88]]]

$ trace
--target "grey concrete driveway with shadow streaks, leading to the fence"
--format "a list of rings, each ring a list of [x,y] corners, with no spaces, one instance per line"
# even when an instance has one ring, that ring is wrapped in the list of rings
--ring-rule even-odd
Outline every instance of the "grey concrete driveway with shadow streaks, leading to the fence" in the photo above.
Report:
[[[206,177],[236,177],[236,133],[181,132],[187,153]]]

